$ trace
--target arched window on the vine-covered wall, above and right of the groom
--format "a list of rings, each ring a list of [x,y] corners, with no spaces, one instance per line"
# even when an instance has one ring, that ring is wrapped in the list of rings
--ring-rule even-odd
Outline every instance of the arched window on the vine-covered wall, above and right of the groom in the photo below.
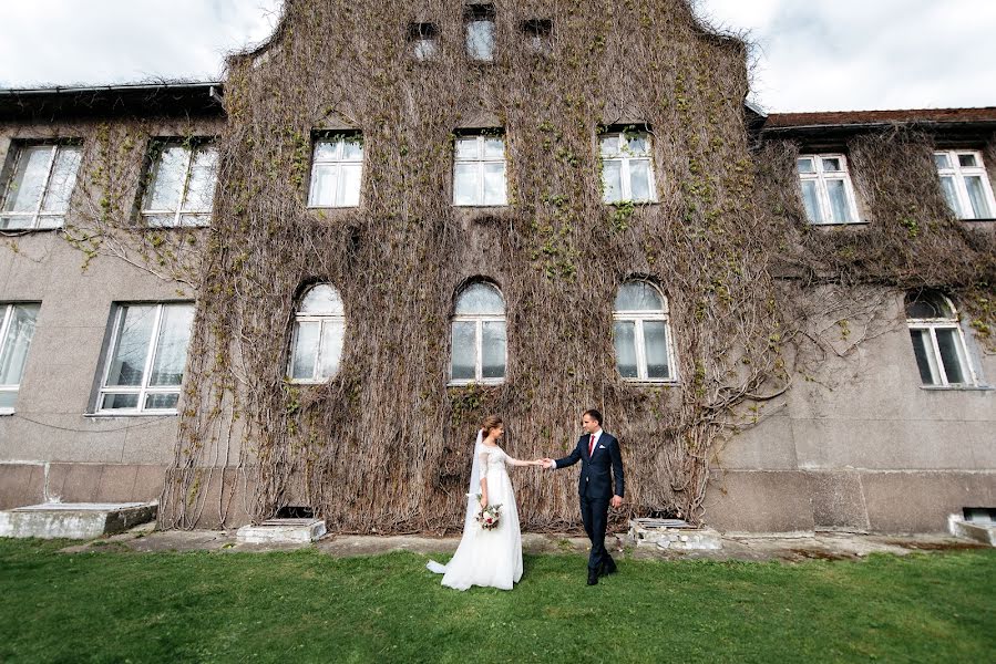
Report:
[[[675,380],[667,299],[648,281],[619,287],[613,311],[616,366],[627,381]]]

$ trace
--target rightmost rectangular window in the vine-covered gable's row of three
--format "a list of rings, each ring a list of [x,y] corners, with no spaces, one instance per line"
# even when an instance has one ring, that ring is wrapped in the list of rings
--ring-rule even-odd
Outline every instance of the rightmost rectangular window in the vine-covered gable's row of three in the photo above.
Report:
[[[602,200],[609,204],[657,200],[650,134],[602,134],[598,142],[602,153]]]

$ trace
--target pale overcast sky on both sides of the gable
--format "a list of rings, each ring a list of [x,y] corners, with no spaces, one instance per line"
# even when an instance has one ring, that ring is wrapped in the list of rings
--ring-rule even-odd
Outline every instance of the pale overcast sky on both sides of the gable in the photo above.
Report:
[[[996,0],[699,0],[772,112],[996,105]],[[0,0],[0,87],[216,80],[280,0]]]

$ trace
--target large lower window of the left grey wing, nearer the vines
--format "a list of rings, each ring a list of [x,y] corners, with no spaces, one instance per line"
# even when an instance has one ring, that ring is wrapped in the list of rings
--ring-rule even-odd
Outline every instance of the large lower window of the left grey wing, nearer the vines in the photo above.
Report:
[[[194,305],[115,308],[97,413],[175,413]]]

